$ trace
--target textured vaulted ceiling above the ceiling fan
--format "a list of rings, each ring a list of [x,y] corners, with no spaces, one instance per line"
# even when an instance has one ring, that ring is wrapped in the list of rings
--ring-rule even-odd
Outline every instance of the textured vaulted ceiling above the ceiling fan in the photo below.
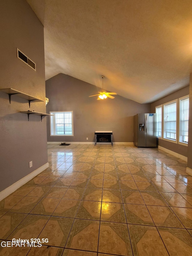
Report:
[[[44,25],[46,80],[64,73],[102,87],[104,75],[104,89],[140,103],[189,84],[191,0],[27,2]]]

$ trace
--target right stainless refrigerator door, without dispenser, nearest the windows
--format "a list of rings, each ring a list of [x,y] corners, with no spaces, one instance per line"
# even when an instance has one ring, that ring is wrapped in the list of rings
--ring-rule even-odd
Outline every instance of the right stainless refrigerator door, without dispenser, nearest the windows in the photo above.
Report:
[[[146,114],[146,147],[156,147],[156,115],[155,113]]]

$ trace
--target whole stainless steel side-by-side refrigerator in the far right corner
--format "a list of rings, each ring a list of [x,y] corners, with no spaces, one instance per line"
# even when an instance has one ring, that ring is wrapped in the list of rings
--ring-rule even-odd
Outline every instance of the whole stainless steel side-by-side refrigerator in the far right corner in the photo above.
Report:
[[[134,116],[134,145],[137,147],[156,147],[156,113]]]

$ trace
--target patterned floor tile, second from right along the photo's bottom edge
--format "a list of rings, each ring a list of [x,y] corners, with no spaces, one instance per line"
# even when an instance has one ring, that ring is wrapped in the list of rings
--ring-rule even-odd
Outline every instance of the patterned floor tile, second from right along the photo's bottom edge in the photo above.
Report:
[[[156,227],[128,224],[134,256],[168,256]]]

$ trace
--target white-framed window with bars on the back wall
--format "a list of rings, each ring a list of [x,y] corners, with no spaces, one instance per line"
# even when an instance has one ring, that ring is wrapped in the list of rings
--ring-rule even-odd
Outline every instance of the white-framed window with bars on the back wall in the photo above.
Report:
[[[73,111],[50,112],[50,135],[73,136]]]

